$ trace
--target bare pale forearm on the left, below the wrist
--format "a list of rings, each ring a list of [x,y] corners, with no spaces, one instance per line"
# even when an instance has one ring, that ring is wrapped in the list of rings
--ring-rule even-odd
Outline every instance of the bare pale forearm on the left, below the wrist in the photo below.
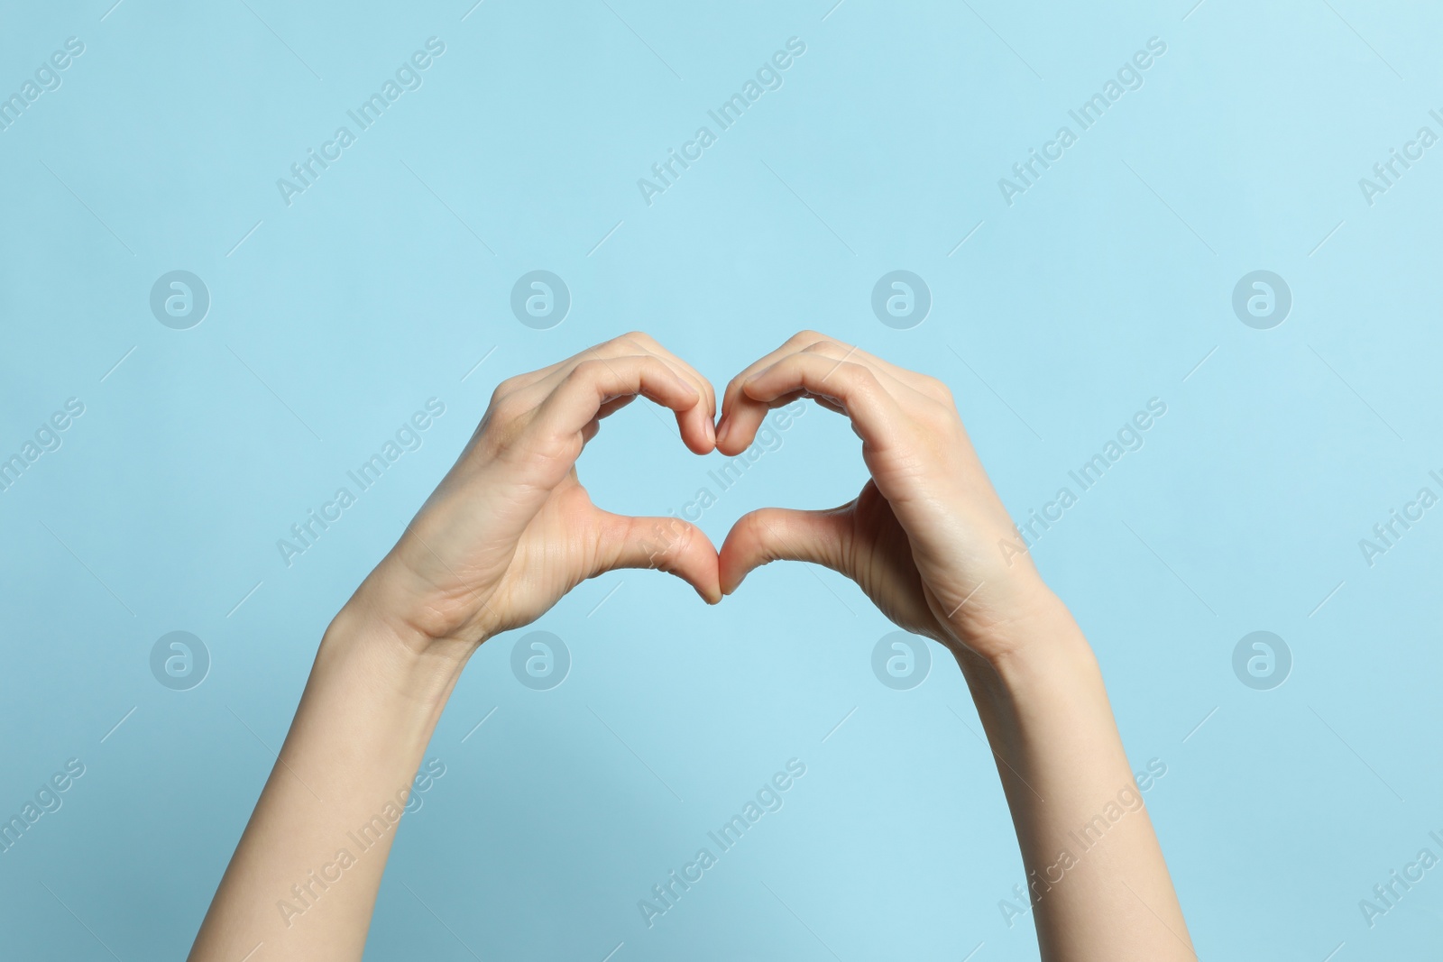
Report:
[[[460,671],[351,604],[326,630],[193,962],[359,959],[421,754]]]

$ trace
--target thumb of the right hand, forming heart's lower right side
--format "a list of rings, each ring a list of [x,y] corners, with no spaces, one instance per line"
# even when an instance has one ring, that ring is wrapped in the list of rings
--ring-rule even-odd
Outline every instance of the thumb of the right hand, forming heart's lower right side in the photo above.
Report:
[[[851,577],[847,544],[851,505],[830,511],[763,508],[742,515],[722,544],[722,593],[732,594],[752,568],[769,561],[810,561]]]

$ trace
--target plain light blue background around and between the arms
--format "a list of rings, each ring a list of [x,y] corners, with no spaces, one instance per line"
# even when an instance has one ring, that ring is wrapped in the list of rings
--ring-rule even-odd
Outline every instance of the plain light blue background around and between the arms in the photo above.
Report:
[[[717,385],[801,327],[937,375],[1019,519],[1162,398],[1036,558],[1134,767],[1167,766],[1146,799],[1199,955],[1437,945],[1443,874],[1372,929],[1358,901],[1443,829],[1443,509],[1372,567],[1358,541],[1439,492],[1443,147],[1372,206],[1358,179],[1443,133],[1443,14],[830,3],[0,4],[0,94],[85,43],[0,133],[0,456],[85,404],[0,493],[0,811],[87,766],[0,855],[7,958],[183,956],[320,632],[495,384],[633,327]],[[424,85],[286,206],[276,179],[430,36]],[[784,87],[648,206],[638,177],[791,36]],[[1144,87],[1007,206],[997,179],[1153,36]],[[177,268],[212,297],[183,332],[149,310]],[[534,268],[573,296],[553,330],[508,307]],[[934,296],[912,330],[869,307],[896,268]],[[1231,310],[1257,268],[1293,291],[1273,330]],[[430,397],[421,450],[287,568],[276,539]],[[717,544],[856,493],[838,418],[784,437],[704,515]],[[580,470],[651,513],[720,460],[633,405]],[[1023,873],[955,665],[880,685],[890,627],[840,577],[773,565],[706,609],[619,573],[537,627],[570,676],[521,687],[512,636],[472,659],[368,958],[1036,958],[999,909]],[[188,692],[147,661],[177,629],[214,661]],[[1231,668],[1258,629],[1294,658],[1273,691]],[[785,808],[648,930],[636,900],[791,757]]]

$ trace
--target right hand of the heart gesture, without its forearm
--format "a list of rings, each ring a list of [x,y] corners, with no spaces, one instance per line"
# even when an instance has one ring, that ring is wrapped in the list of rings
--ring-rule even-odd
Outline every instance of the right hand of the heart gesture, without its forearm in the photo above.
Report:
[[[766,508],[722,545],[723,594],[768,561],[811,561],[846,574],[896,625],[988,662],[1033,632],[1014,632],[1055,601],[1017,544],[1012,518],[973,450],[947,387],[804,330],[727,385],[717,449],[737,454],[771,408],[807,397],[847,415],[872,479],[831,511]]]

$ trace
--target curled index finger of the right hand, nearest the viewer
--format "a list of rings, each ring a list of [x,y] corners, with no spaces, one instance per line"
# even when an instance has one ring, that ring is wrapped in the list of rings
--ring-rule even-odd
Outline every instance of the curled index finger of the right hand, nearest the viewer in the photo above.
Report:
[[[815,398],[833,411],[840,410],[863,441],[882,447],[902,423],[900,405],[889,392],[887,381],[886,375],[851,361],[812,352],[788,355],[742,384],[717,447],[724,454],[746,450],[766,412],[797,397]]]

